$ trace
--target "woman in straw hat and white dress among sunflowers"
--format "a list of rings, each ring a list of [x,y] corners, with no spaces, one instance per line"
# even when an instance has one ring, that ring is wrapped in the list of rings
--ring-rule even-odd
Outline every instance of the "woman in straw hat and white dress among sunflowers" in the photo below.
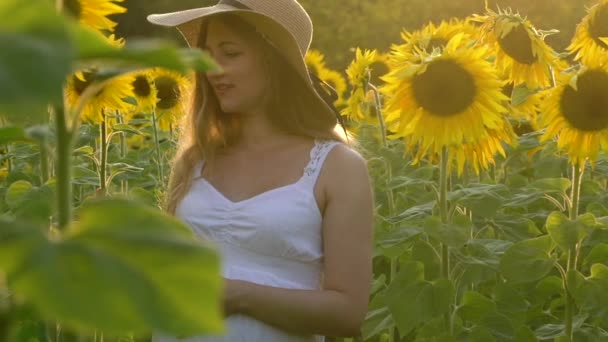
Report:
[[[295,0],[222,0],[148,20],[177,26],[222,67],[196,79],[167,210],[218,246],[227,329],[187,341],[358,335],[372,191],[306,69],[308,14]]]

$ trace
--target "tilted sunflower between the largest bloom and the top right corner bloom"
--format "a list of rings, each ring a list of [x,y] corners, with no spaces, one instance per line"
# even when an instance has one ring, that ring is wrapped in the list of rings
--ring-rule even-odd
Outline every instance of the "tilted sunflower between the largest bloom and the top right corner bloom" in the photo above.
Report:
[[[482,23],[480,42],[496,51],[496,66],[503,77],[530,89],[551,86],[552,70],[562,70],[564,63],[545,43],[548,32],[536,30],[529,20],[510,10],[487,12],[471,20]]]

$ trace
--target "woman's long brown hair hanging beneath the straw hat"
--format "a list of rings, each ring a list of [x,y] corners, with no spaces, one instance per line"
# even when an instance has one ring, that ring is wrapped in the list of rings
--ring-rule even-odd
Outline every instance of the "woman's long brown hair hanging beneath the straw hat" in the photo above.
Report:
[[[237,15],[222,14],[214,19],[224,21],[235,33],[254,42],[263,53],[264,68],[270,79],[267,115],[282,131],[323,140],[344,139],[335,130],[334,113],[313,93],[295,69],[255,28]],[[202,23],[198,46],[205,45],[208,20]],[[241,135],[238,116],[227,115],[218,103],[203,73],[197,73],[190,114],[180,127],[177,152],[171,161],[171,173],[164,209],[175,214],[178,203],[192,185],[194,167],[201,159],[213,163],[218,149],[235,144]]]

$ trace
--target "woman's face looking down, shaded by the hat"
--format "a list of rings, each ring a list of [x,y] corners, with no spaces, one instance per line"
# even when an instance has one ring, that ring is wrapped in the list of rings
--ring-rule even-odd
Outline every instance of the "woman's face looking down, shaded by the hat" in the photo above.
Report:
[[[263,112],[268,78],[259,49],[217,19],[209,21],[204,48],[223,69],[207,73],[222,111]]]

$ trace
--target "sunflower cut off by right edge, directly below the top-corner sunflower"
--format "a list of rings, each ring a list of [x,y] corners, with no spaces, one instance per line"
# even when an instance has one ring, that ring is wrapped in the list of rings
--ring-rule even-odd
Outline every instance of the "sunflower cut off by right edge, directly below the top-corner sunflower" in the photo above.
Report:
[[[582,67],[560,75],[543,102],[543,140],[557,136],[574,165],[595,163],[600,147],[608,150],[608,67]]]

